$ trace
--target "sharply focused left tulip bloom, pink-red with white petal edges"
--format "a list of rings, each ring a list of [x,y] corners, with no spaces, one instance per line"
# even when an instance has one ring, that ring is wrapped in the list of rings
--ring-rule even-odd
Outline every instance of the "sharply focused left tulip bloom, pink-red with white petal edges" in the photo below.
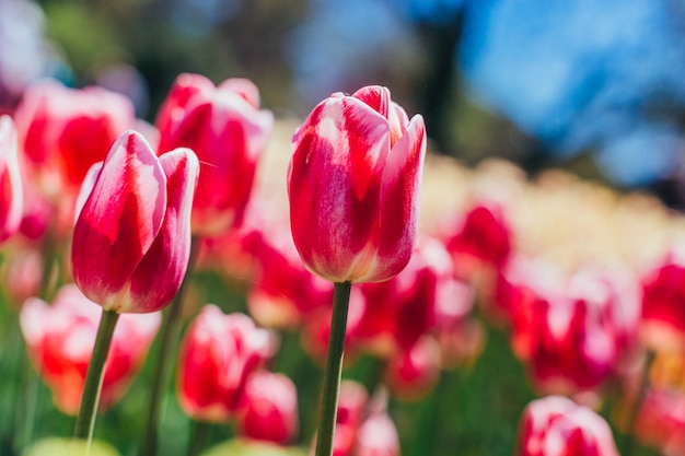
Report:
[[[139,133],[117,139],[80,196],[71,262],[89,299],[119,313],[171,302],[188,265],[197,173],[188,149],[158,159]]]

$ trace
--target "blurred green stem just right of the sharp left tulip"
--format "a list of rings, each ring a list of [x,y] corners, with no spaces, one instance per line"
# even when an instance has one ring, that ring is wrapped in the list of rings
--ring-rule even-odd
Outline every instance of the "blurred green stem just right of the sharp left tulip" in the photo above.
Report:
[[[154,374],[150,389],[148,419],[146,421],[146,429],[142,436],[143,441],[139,452],[141,456],[155,456],[158,453],[160,417],[162,416],[163,402],[162,399],[169,389],[167,386],[171,377],[171,367],[173,366],[173,361],[176,359],[175,349],[181,337],[181,311],[183,308],[183,301],[188,280],[197,260],[199,241],[200,239],[198,237],[193,237],[190,244],[190,258],[188,259],[188,267],[186,269],[185,277],[183,278],[183,282],[181,282],[178,293],[176,293],[174,300],[166,307],[166,316],[160,331],[160,349],[156,355],[156,365],[154,366]]]

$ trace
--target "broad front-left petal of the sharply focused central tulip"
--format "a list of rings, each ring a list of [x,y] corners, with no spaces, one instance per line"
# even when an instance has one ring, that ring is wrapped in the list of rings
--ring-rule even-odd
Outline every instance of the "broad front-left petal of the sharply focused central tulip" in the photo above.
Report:
[[[381,175],[390,151],[387,120],[353,97],[314,108],[293,136],[288,172],[291,227],[313,271],[349,280],[378,230]]]

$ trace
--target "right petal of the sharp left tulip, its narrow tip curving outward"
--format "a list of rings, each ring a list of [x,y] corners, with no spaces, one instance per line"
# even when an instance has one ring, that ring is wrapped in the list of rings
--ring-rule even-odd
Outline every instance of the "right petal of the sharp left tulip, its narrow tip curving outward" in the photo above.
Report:
[[[131,276],[129,306],[119,312],[148,313],[164,307],[178,291],[188,267],[190,211],[199,163],[191,150],[183,148],[163,154],[160,163],[166,175],[164,222]]]

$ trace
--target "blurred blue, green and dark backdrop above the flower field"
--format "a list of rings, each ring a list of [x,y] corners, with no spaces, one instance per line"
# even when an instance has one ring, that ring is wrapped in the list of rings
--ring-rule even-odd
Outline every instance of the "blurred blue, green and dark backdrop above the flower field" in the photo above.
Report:
[[[683,43],[681,0],[0,0],[0,104],[51,75],[152,120],[188,71],[303,117],[378,83],[467,165],[564,166],[682,209]]]

